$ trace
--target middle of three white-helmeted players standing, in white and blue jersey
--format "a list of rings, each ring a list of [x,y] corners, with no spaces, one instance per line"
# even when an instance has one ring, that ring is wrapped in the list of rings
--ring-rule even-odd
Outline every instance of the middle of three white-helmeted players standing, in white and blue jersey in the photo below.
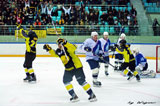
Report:
[[[102,59],[101,61],[104,62],[104,68],[105,68],[105,75],[108,76],[108,67],[109,67],[109,48],[111,45],[111,42],[109,40],[109,34],[108,32],[104,32],[103,33],[103,38],[99,39],[100,44],[101,44],[101,48],[103,51],[102,57],[100,59]],[[104,60],[104,61],[103,61]]]

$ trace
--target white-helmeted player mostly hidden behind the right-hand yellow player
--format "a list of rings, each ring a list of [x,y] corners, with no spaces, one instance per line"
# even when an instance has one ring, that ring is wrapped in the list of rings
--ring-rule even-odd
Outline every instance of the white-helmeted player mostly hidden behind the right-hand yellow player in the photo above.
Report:
[[[124,33],[122,33],[117,41],[117,45],[120,46],[119,42],[121,40],[125,40],[126,39],[126,35]],[[123,63],[123,55],[122,54],[119,54],[118,52],[115,52],[115,71],[122,71],[122,70],[119,70],[121,64]]]

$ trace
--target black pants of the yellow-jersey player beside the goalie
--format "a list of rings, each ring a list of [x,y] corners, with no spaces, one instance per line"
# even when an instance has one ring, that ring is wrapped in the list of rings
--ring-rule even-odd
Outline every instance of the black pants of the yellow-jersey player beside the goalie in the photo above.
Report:
[[[120,70],[125,70],[127,67],[134,72],[135,71],[135,60],[129,62],[129,63],[122,63],[122,65],[120,66]]]

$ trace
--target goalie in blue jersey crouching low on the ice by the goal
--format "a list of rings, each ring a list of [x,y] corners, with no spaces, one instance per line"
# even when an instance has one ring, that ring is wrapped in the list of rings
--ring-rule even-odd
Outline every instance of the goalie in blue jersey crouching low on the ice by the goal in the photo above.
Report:
[[[156,73],[148,69],[147,59],[139,52],[138,48],[133,48],[133,54],[136,59],[136,70],[141,78],[155,78]]]

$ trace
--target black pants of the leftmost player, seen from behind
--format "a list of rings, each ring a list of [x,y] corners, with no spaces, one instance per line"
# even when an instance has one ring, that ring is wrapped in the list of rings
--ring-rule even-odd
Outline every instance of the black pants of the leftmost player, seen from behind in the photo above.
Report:
[[[27,68],[27,69],[32,68],[32,63],[33,63],[35,58],[36,58],[36,54],[35,53],[26,52],[25,53],[25,61],[24,61],[23,67]]]

